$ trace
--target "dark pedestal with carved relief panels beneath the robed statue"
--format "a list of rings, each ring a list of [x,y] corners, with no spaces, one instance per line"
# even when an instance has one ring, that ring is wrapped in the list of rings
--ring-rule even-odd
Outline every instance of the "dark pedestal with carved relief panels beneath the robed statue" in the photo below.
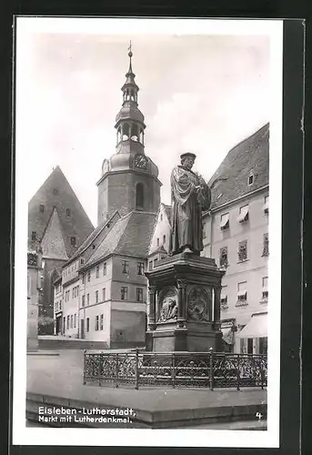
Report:
[[[221,278],[211,258],[181,253],[146,272],[148,308],[146,350],[221,351]]]

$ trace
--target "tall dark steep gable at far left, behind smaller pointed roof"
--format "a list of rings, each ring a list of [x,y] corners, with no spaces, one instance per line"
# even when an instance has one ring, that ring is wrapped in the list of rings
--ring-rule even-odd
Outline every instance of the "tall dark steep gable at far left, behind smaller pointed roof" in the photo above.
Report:
[[[40,205],[44,206],[43,212],[39,209]],[[76,249],[75,246],[71,245],[70,238],[75,237],[76,246],[79,246],[94,230],[94,227],[78,198],[75,196],[74,190],[69,185],[65,175],[58,166],[55,167],[54,171],[45,180],[45,183],[29,201],[29,241],[31,241],[33,231],[36,232],[39,241],[41,240],[54,207],[57,209],[57,214],[63,229],[65,250],[69,258]],[[69,217],[66,216],[66,208],[70,209]]]

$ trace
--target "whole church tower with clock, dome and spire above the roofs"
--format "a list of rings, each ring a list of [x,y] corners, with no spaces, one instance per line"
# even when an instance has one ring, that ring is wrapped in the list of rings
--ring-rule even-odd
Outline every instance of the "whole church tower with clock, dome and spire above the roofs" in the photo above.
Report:
[[[132,210],[156,213],[160,203],[158,168],[145,154],[146,125],[137,103],[131,42],[128,56],[129,69],[121,87],[123,104],[116,116],[116,153],[104,160],[102,177],[96,183],[98,226],[116,210],[121,216]]]

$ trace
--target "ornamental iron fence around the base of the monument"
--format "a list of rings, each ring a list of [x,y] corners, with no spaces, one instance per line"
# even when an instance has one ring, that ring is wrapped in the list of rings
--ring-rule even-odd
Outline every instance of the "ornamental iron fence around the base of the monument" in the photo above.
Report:
[[[84,384],[111,387],[267,387],[267,355],[218,352],[87,352]]]

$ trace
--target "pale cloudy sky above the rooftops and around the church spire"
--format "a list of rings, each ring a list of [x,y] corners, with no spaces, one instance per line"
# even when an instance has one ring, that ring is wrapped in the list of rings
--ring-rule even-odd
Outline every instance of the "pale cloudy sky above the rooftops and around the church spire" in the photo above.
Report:
[[[18,36],[18,35],[17,35]],[[27,199],[61,167],[96,226],[102,162],[115,153],[132,42],[145,151],[159,169],[161,198],[186,151],[212,176],[226,153],[269,120],[268,35],[68,33],[34,30],[17,47],[18,153],[31,175]]]

